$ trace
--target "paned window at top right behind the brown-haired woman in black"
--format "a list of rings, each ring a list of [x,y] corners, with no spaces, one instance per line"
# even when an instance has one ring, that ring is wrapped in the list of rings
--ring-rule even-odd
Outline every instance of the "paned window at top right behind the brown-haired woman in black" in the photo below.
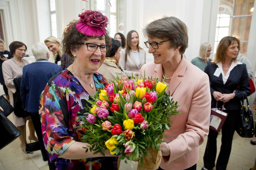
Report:
[[[220,0],[217,15],[214,54],[225,36],[240,40],[240,53],[246,56],[254,0]]]

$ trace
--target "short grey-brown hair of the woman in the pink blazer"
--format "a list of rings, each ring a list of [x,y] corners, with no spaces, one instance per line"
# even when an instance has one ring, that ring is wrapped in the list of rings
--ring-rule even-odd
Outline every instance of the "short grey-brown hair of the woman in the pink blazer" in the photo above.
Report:
[[[155,20],[148,24],[143,33],[150,38],[166,38],[169,40],[170,47],[179,49],[181,54],[184,54],[188,47],[188,28],[184,22],[176,17],[165,17]]]

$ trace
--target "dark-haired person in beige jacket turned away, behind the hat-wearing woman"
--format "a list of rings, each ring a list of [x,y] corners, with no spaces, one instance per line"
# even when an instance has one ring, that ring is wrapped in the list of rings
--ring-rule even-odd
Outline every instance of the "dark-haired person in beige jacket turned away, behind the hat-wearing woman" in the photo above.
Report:
[[[118,62],[120,59],[120,51],[118,50],[121,43],[112,38],[112,45],[109,48],[109,56],[106,56],[102,66],[98,69],[98,73],[102,74],[111,83],[111,79],[115,80],[118,76],[126,77],[126,74],[120,69]]]

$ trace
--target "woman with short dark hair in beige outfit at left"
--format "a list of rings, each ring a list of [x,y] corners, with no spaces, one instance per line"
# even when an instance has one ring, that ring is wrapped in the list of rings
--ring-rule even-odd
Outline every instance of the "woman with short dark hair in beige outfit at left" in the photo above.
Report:
[[[23,59],[26,54],[26,45],[19,41],[14,41],[9,45],[10,53],[13,55],[13,58],[10,60],[4,61],[2,65],[4,83],[8,88],[8,94],[10,96],[10,103],[14,106],[13,94],[16,92],[13,80],[15,78],[21,78],[23,74],[23,67],[28,64],[28,61]],[[12,113],[13,120],[15,126],[22,132],[19,136],[19,140],[21,141],[20,147],[25,153],[33,153],[26,152],[26,134],[25,134],[25,126],[26,120],[28,119],[28,127],[30,131],[29,140],[38,141],[38,138],[35,136],[35,130],[30,116],[23,118],[18,117],[14,113]]]

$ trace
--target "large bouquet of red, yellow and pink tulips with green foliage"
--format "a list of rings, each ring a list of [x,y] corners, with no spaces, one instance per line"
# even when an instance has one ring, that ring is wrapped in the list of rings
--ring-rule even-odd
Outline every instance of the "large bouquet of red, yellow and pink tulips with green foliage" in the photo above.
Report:
[[[126,159],[125,163],[128,159],[132,165],[132,160],[140,159],[143,167],[149,151],[160,152],[164,130],[170,127],[170,116],[178,114],[177,102],[166,94],[166,88],[157,79],[117,77],[99,89],[88,100],[92,106],[87,106],[88,112],[81,119],[85,129],[82,140],[90,144],[86,151],[104,155],[108,148],[119,159]],[[159,166],[161,158],[158,159]]]

